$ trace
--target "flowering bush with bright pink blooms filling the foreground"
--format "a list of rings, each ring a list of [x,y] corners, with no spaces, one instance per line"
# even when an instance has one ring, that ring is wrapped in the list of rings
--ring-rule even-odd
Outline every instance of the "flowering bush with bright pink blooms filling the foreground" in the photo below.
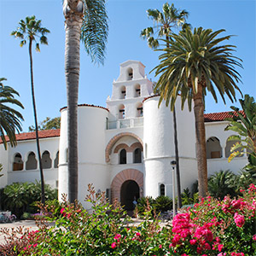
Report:
[[[223,201],[201,199],[184,209],[172,225],[160,226],[146,207],[138,226],[128,225],[117,202],[110,205],[104,195],[89,186],[93,212],[65,199],[58,210],[61,217],[47,214],[38,231],[25,234],[11,250],[0,247],[0,255],[172,255],[172,256],[252,256],[256,255],[256,188],[252,184],[239,198]],[[48,207],[55,212],[54,206]],[[49,216],[49,217],[47,217]],[[54,217],[55,216],[55,217]],[[47,221],[46,221],[47,220]],[[55,220],[55,225],[48,221]]]

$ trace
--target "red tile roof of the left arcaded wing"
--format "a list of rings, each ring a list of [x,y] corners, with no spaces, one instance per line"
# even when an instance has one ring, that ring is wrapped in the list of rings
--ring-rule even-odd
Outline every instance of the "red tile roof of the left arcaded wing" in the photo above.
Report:
[[[60,129],[38,131],[38,136],[39,138],[60,137]],[[6,138],[7,138],[7,142],[9,142],[9,137],[6,137]],[[26,140],[33,140],[33,139],[36,139],[35,131],[16,134],[17,141],[26,141]],[[0,144],[1,143],[3,143],[3,141],[0,138]]]

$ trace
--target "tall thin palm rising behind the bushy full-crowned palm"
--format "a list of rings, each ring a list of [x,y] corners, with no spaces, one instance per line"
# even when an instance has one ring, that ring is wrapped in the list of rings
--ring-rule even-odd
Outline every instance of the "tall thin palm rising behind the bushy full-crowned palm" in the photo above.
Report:
[[[159,39],[166,39],[166,47],[169,47],[168,39],[172,33],[173,28],[182,26],[183,28],[189,26],[186,23],[186,18],[189,13],[186,10],[178,10],[174,7],[173,3],[164,3],[162,12],[158,9],[148,9],[148,18],[154,22],[154,27],[149,26],[141,32],[141,37],[148,40],[148,47],[157,49],[159,47]],[[156,36],[157,38],[154,38]],[[155,92],[155,91],[154,91]],[[177,207],[182,207],[181,198],[181,184],[179,173],[179,160],[178,160],[178,146],[177,146],[177,120],[176,111],[173,108],[173,129],[174,129],[174,146],[176,158],[176,174],[177,174]]]

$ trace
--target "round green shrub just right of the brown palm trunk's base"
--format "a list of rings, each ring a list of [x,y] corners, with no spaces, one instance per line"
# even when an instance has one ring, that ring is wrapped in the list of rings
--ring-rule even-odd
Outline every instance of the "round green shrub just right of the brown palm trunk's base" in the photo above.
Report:
[[[236,195],[236,175],[230,170],[215,172],[208,179],[209,194],[215,198],[224,199],[225,195]]]

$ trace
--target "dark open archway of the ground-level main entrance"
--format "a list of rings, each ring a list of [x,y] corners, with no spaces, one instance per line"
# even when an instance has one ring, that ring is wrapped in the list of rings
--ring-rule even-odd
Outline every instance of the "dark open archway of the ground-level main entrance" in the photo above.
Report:
[[[140,197],[140,188],[134,180],[126,180],[120,191],[121,205],[125,206],[126,211],[131,211],[134,209],[133,201],[134,198],[138,199]]]

